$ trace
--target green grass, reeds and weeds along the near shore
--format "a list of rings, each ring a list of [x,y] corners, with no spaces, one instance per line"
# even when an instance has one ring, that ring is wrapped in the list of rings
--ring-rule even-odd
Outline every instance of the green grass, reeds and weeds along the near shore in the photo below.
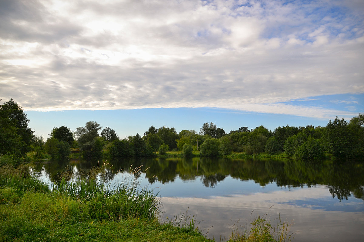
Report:
[[[2,241],[215,241],[204,237],[193,216],[179,213],[161,222],[157,194],[126,178],[119,186],[100,182],[108,164],[88,173],[62,173],[51,188],[29,175],[29,165],[0,159]],[[130,174],[141,167],[130,168]],[[187,214],[187,212],[186,212]],[[290,224],[263,217],[248,229],[235,226],[226,242],[291,241]]]

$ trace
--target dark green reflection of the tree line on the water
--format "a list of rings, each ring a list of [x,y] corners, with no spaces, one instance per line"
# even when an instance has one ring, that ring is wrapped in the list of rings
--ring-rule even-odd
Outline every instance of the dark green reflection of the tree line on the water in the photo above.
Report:
[[[195,180],[201,176],[205,186],[213,187],[226,175],[240,180],[254,180],[261,186],[276,183],[282,187],[304,187],[316,184],[328,185],[329,192],[339,200],[347,199],[351,194],[364,200],[364,166],[351,161],[304,161],[304,160],[264,160],[264,159],[224,159],[224,158],[153,158],[110,160],[110,167],[100,173],[100,180],[109,182],[119,171],[134,172],[138,179],[145,174],[150,183],[173,182],[177,176],[182,180]],[[102,165],[97,160],[54,160],[43,164],[34,164],[34,175],[40,175],[42,169],[51,181],[57,181],[66,167],[72,167],[74,175],[90,173],[92,167]]]

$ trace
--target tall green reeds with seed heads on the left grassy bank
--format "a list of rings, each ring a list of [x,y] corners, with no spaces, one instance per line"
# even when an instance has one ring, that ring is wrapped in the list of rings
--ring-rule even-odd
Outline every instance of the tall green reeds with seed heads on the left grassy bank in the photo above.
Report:
[[[121,220],[124,218],[154,219],[158,212],[159,199],[151,189],[140,186],[136,179],[124,180],[120,185],[110,187],[97,177],[108,164],[94,167],[86,176],[76,179],[66,174],[54,185],[52,193],[68,197],[83,204],[81,216],[89,218]],[[141,171],[131,169],[131,175]],[[131,176],[132,177],[132,176]]]

